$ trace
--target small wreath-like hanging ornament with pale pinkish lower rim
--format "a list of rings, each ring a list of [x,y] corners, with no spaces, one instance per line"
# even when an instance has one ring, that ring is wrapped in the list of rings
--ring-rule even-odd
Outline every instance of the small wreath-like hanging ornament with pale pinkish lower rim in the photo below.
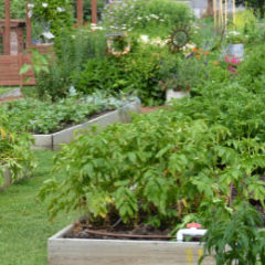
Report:
[[[124,33],[107,34],[108,53],[120,56],[129,53],[130,41]]]

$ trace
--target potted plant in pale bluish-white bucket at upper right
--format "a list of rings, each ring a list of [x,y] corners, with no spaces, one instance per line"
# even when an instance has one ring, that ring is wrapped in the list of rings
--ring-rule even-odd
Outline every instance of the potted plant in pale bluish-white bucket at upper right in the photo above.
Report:
[[[244,42],[247,41],[247,36],[239,31],[229,31],[226,34],[226,40],[230,43],[230,55],[237,59],[243,59],[244,56]]]

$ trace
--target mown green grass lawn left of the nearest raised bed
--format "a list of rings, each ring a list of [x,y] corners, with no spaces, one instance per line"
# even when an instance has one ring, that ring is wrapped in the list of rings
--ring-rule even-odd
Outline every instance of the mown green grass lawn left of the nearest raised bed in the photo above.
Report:
[[[39,167],[33,178],[0,193],[1,265],[46,265],[47,237],[75,220],[73,213],[49,222],[46,202],[40,202],[36,193],[50,177],[53,152],[35,151],[35,156]]]

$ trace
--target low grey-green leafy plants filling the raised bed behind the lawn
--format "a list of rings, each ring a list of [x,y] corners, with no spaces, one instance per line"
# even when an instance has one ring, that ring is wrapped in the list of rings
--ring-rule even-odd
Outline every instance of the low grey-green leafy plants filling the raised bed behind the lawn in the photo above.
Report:
[[[128,100],[130,97],[119,99],[97,92],[88,97],[73,96],[55,104],[21,99],[0,106],[0,110],[10,119],[9,126],[13,130],[51,134],[87,121],[93,114],[123,107]]]

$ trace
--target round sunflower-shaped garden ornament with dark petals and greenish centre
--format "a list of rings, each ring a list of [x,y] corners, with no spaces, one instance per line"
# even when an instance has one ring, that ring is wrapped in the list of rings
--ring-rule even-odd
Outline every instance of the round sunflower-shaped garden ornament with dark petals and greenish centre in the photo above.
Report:
[[[172,53],[179,52],[190,41],[189,30],[186,28],[173,30],[169,38],[169,50]]]

